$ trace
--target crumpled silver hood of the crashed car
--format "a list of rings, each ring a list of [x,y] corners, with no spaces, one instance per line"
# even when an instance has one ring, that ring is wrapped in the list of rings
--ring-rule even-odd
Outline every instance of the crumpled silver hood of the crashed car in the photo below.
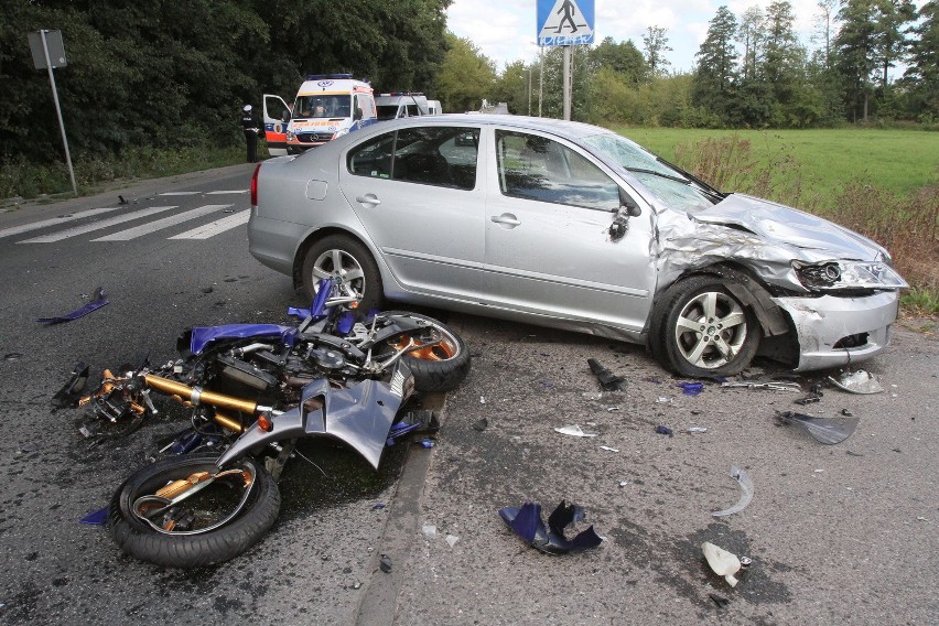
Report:
[[[771,242],[816,251],[812,257],[874,261],[886,250],[866,237],[814,215],[744,194],[689,217],[703,224],[741,227]],[[818,255],[818,252],[822,252]]]

